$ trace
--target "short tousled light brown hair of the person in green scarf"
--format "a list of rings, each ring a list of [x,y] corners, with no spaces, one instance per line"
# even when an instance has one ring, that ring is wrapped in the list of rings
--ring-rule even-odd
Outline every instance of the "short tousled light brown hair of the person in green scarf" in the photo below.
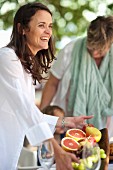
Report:
[[[87,48],[104,50],[113,42],[113,16],[99,16],[93,20],[87,31]]]

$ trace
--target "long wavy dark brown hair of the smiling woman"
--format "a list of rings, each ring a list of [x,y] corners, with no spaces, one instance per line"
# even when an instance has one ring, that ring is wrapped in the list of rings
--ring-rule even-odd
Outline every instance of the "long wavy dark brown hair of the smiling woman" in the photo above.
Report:
[[[26,37],[23,35],[23,29],[29,29],[29,22],[38,10],[45,10],[52,16],[51,11],[42,3],[28,3],[19,8],[14,17],[11,40],[7,45],[10,48],[14,48],[25,71],[32,75],[34,82],[36,80],[40,82],[43,79],[43,72],[47,73],[50,63],[55,59],[52,37],[48,42],[48,49],[40,50],[35,57],[32,57],[30,49],[26,45]],[[20,24],[19,28],[18,24]]]

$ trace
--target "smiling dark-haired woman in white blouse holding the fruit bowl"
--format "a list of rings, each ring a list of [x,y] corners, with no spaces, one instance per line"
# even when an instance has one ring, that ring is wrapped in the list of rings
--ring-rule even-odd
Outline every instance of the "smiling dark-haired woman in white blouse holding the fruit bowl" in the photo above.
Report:
[[[50,10],[41,3],[21,6],[14,17],[11,40],[0,49],[1,170],[17,169],[25,135],[33,146],[51,139],[57,170],[72,170],[71,162],[79,162],[57,144],[53,132],[55,127],[84,125],[93,116],[62,119],[45,115],[34,102],[34,85],[41,82],[54,58]]]

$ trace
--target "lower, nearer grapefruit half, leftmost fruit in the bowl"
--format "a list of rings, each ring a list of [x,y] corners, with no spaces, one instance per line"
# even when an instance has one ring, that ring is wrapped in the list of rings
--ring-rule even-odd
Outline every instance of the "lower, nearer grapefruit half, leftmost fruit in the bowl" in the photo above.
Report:
[[[66,151],[77,151],[80,147],[80,144],[70,137],[64,137],[61,140],[61,146]]]

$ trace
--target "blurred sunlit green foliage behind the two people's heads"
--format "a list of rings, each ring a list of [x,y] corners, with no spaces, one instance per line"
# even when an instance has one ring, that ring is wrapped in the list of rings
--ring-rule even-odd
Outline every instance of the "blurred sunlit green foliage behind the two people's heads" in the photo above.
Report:
[[[9,41],[17,9],[34,0],[0,0],[0,46]],[[56,51],[69,41],[86,33],[89,22],[98,15],[113,14],[113,0],[37,0],[53,13]],[[5,31],[4,31],[5,30]]]

